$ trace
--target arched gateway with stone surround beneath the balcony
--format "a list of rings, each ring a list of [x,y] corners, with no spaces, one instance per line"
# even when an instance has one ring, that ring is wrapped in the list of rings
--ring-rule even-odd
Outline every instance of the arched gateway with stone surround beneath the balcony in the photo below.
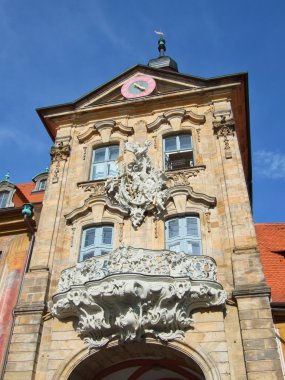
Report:
[[[81,351],[63,363],[55,380],[218,380],[211,359],[201,351],[152,339],[110,344],[95,352]]]

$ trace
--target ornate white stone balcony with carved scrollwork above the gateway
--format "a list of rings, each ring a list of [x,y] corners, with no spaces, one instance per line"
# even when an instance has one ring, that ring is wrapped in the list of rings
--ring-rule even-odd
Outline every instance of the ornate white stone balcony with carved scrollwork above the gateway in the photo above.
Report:
[[[212,258],[131,247],[64,270],[57,291],[52,315],[74,318],[89,348],[145,334],[181,338],[193,325],[194,309],[226,300]]]

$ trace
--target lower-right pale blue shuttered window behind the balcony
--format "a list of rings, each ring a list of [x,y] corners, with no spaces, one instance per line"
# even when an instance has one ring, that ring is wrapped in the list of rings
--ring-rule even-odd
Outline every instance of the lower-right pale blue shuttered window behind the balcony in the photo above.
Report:
[[[201,255],[200,220],[197,216],[173,218],[166,222],[166,248],[170,251]]]

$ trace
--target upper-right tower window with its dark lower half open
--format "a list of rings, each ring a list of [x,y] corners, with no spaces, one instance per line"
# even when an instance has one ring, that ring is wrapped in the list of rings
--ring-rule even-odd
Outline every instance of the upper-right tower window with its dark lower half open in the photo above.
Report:
[[[165,137],[163,146],[166,170],[185,169],[194,166],[191,135]]]

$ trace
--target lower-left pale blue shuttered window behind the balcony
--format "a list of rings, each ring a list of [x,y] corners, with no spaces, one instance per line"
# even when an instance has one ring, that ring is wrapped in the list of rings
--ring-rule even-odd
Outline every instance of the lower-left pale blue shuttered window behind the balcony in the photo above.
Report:
[[[101,225],[85,228],[81,238],[80,261],[110,252],[112,250],[112,243],[112,225]]]

